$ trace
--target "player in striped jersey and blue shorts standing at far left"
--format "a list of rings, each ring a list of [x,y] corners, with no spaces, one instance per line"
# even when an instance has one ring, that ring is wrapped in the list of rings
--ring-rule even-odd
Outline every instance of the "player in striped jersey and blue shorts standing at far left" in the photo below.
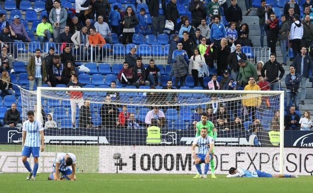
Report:
[[[39,157],[39,148],[41,151],[45,149],[44,143],[44,128],[42,123],[39,120],[35,120],[34,111],[27,112],[28,120],[23,123],[23,133],[22,133],[22,161],[29,171],[27,180],[36,180],[36,173],[38,170],[38,157]],[[41,141],[41,145],[40,145]],[[34,168],[32,170],[27,158],[30,155],[34,157]]]

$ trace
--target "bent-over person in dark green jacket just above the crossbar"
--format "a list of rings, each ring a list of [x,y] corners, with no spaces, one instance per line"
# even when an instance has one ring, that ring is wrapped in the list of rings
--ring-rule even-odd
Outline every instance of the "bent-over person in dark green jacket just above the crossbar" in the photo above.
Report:
[[[237,82],[241,83],[241,87],[245,87],[248,84],[249,78],[254,77],[257,80],[257,72],[253,64],[247,60],[240,59],[238,61],[240,66]]]

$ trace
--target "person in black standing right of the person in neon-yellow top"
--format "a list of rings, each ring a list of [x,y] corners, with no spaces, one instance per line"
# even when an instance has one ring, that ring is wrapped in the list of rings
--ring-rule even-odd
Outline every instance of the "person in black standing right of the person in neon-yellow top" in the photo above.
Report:
[[[227,45],[227,39],[222,38],[220,45],[217,45],[217,75],[223,75],[223,71],[227,69],[228,56],[230,47]]]

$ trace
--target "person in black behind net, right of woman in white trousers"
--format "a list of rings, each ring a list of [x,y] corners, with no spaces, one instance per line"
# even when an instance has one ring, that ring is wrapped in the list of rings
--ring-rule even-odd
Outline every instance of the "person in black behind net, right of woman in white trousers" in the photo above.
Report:
[[[79,109],[79,128],[91,128],[93,125],[91,112],[90,112],[90,101],[85,100],[84,105]]]

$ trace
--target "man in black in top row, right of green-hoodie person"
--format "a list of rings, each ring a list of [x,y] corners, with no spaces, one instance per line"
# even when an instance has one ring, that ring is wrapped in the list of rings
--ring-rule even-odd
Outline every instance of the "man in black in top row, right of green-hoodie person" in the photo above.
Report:
[[[242,21],[242,11],[237,4],[237,0],[231,0],[231,6],[224,10],[227,22],[235,22],[236,28],[239,28]]]

